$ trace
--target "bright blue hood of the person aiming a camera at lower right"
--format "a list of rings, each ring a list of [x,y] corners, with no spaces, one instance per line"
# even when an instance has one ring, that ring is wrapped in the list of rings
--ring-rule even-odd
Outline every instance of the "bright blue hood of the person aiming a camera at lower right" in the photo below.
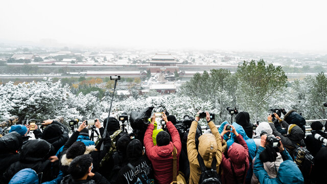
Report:
[[[292,160],[282,162],[277,177],[282,183],[304,183],[301,171]]]

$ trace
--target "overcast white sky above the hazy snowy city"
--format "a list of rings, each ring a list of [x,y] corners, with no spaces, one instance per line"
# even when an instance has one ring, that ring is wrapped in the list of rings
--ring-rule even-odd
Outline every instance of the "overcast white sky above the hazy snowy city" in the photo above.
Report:
[[[325,1],[1,1],[0,42],[327,52]]]

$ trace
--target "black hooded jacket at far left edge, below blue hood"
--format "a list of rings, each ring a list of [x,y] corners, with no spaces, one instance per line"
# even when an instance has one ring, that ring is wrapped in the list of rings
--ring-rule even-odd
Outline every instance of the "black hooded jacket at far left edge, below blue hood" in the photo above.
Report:
[[[17,132],[11,132],[0,138],[0,173],[19,160],[19,154],[22,145],[21,135]],[[0,176],[1,178],[1,176]]]

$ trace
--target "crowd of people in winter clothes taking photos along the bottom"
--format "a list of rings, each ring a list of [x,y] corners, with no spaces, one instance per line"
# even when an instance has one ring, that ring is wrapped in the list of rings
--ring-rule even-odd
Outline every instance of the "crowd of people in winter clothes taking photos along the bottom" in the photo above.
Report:
[[[313,122],[306,136],[295,110],[256,126],[236,111],[219,129],[200,113],[177,121],[162,112],[160,122],[153,115],[132,133],[115,118],[97,119],[95,142],[85,121],[70,136],[62,118],[44,121],[43,130],[12,125],[0,138],[0,183],[326,183],[327,147],[315,134],[327,139],[327,123]]]

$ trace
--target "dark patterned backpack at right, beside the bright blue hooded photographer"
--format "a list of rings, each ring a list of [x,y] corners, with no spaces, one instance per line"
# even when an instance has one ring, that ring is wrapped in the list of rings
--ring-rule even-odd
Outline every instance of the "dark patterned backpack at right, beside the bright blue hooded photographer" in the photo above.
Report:
[[[294,150],[294,163],[300,169],[303,178],[310,178],[314,166],[314,157],[305,147]]]

